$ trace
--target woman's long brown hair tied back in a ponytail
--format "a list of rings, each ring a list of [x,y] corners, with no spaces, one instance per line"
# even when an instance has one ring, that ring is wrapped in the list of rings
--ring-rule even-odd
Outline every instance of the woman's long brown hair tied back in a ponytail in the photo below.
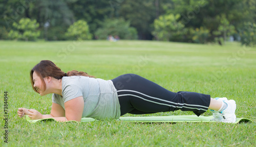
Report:
[[[59,67],[57,67],[53,62],[49,60],[42,60],[40,63],[34,66],[34,68],[30,71],[30,81],[32,88],[35,92],[38,93],[37,89],[34,87],[34,81],[33,81],[33,73],[36,72],[36,74],[40,77],[42,82],[44,83],[44,91],[46,89],[46,83],[44,82],[45,77],[53,77],[55,79],[61,79],[63,76],[87,76],[87,77],[94,77],[89,75],[86,72],[78,72],[76,70],[69,71],[66,75],[65,72],[61,71]]]

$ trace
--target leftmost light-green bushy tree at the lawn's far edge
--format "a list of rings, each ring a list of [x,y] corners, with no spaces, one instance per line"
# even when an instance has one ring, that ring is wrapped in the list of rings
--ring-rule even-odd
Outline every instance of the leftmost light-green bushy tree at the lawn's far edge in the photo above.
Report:
[[[22,18],[18,23],[13,22],[15,30],[11,30],[8,34],[11,39],[31,40],[34,41],[40,36],[40,32],[37,30],[39,23],[36,20],[30,20],[29,18]]]

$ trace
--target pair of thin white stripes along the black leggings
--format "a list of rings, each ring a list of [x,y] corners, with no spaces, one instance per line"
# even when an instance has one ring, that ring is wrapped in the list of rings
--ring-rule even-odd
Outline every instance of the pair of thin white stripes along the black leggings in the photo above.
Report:
[[[175,104],[175,105],[196,106],[196,107],[204,107],[204,108],[207,108],[207,109],[208,109],[208,107],[206,107],[206,106],[202,106],[202,105],[193,105],[193,104],[186,104],[186,103],[181,104],[181,103],[170,102],[170,101],[167,101],[167,100],[163,100],[163,99],[159,99],[159,98],[156,98],[156,97],[148,96],[148,95],[145,95],[145,94],[143,94],[143,93],[140,93],[140,92],[137,92],[137,91],[132,91],[132,90],[119,90],[119,91],[117,91],[117,92],[134,92],[134,93],[138,93],[138,94],[141,94],[141,95],[143,95],[143,96],[146,96],[146,97],[148,97],[148,98],[152,98],[152,99],[155,99],[155,100],[159,100],[159,101],[163,101],[163,102],[167,102],[167,103],[171,103],[171,104]],[[147,99],[144,99],[144,98],[142,98],[142,97],[140,97],[140,96],[136,96],[136,95],[133,95],[133,94],[118,95],[118,97],[119,97],[119,96],[120,96],[120,97],[121,97],[121,96],[135,96],[135,97],[137,97],[137,98],[143,99],[143,100],[145,100],[145,101],[153,102],[153,103],[156,103],[156,104],[161,104],[161,105],[176,107],[176,106],[173,106],[173,105],[162,104],[162,103],[158,103],[158,102],[155,102],[155,101],[147,100]],[[178,106],[177,106],[177,107],[178,107]],[[186,106],[183,106],[183,107],[185,107],[185,108],[190,108],[190,109],[199,109],[199,110],[200,110],[200,108],[191,108],[191,107],[186,107]],[[182,108],[182,107],[178,107],[178,108]],[[206,109],[206,111],[207,111],[207,109]],[[205,110],[205,109],[202,109],[202,110]]]

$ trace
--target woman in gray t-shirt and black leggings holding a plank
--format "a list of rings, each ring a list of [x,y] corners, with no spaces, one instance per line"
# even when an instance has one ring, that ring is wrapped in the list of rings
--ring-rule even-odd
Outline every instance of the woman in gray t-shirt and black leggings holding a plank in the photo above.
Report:
[[[236,102],[227,98],[212,99],[193,92],[170,92],[135,74],[112,80],[94,78],[85,72],[65,73],[51,61],[41,61],[30,72],[31,84],[41,96],[53,94],[51,114],[18,108],[18,115],[32,120],[54,118],[56,121],[118,119],[125,113],[147,114],[166,111],[193,111],[200,115],[211,109],[215,121],[236,122]]]

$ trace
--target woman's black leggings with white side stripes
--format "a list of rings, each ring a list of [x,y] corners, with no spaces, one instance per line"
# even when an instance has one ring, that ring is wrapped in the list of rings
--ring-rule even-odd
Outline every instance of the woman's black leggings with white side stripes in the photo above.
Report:
[[[170,92],[162,86],[136,74],[124,74],[112,79],[116,87],[121,115],[148,114],[166,111],[207,111],[210,95],[193,92]]]

